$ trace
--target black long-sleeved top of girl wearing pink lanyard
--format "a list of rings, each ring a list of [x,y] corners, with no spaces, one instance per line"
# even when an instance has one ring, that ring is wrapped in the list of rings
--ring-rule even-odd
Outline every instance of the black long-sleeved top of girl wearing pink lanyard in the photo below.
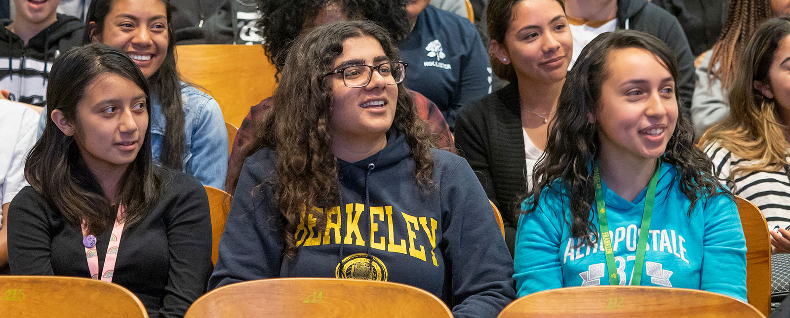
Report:
[[[205,189],[193,176],[160,170],[168,180],[159,203],[123,229],[112,282],[140,298],[149,316],[182,317],[205,293],[211,268],[211,216]],[[97,235],[103,268],[111,229]],[[8,214],[11,274],[90,277],[79,226],[47,204],[32,187],[11,201]]]

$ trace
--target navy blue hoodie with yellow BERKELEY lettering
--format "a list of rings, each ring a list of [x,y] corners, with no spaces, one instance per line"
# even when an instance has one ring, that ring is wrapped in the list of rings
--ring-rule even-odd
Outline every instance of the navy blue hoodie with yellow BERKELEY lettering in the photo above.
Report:
[[[403,134],[390,132],[386,147],[367,159],[339,160],[344,212],[327,211],[323,232],[313,217],[300,224],[299,252],[288,259],[269,182],[276,153],[254,153],[239,176],[209,289],[276,277],[375,279],[434,293],[457,318],[495,318],[515,297],[510,252],[468,163],[444,150],[431,154],[435,187],[428,194],[416,182]]]

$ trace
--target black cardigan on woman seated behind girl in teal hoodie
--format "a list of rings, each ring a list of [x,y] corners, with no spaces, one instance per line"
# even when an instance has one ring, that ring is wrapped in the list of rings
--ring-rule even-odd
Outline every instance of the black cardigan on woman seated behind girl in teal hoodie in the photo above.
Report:
[[[518,197],[526,191],[527,154],[522,131],[516,83],[461,108],[455,124],[458,153],[472,166],[488,199],[502,213],[510,252],[521,207]]]

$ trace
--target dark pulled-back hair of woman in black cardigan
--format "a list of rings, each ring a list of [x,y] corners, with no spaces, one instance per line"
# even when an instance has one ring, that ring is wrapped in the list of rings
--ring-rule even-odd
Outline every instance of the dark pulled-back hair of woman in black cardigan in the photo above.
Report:
[[[522,1],[525,0],[491,0],[491,2],[488,2],[488,7],[486,8],[488,37],[490,37],[491,40],[496,40],[501,47],[506,47],[505,34],[507,33],[507,29],[510,28],[510,24],[513,22],[513,6],[516,6],[518,2]],[[559,3],[559,6],[562,6],[563,10],[565,9],[565,2],[563,0],[555,1]],[[496,58],[494,51],[491,51],[491,49],[489,49],[488,52],[488,59],[491,60],[491,68],[498,78],[511,82],[518,81],[518,78],[516,78],[516,70],[513,69],[513,64],[506,65],[502,63],[502,61]]]

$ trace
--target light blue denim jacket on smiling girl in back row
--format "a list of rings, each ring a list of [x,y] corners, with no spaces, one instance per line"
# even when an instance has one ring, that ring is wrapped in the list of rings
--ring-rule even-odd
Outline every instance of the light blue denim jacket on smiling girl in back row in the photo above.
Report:
[[[225,188],[228,172],[228,131],[220,105],[208,94],[181,83],[184,111],[184,159],[182,172],[195,176],[201,184]],[[41,112],[40,131],[47,123],[47,111]],[[164,113],[157,100],[151,101],[151,152],[160,164],[164,140]]]

